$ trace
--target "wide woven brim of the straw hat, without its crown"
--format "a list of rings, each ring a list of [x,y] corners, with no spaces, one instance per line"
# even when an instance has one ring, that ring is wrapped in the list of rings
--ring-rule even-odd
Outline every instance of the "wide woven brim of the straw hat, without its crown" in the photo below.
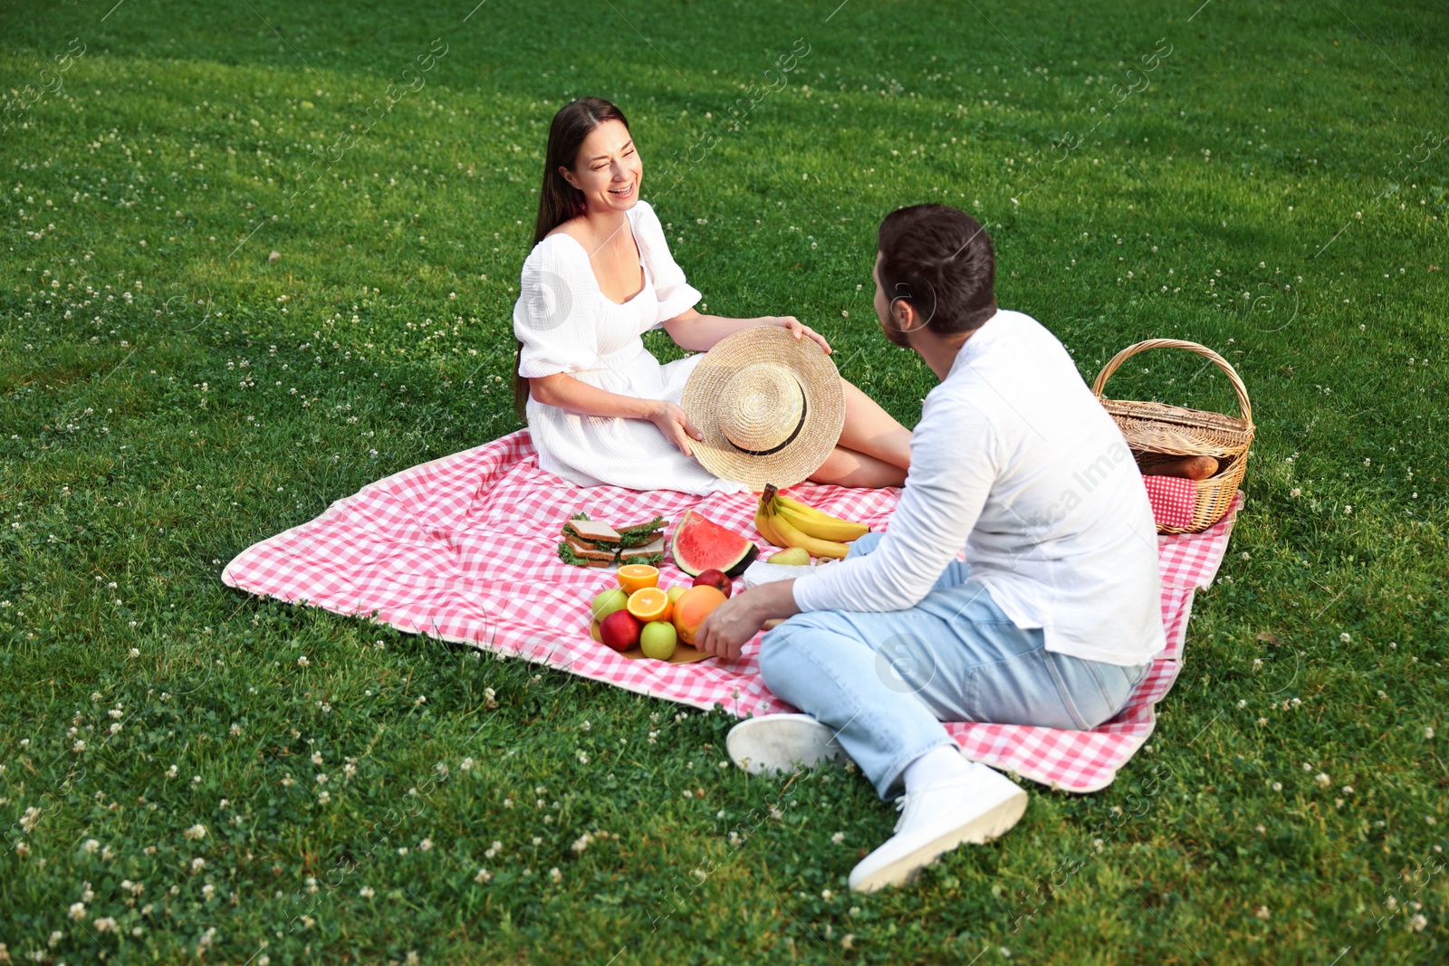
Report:
[[[730,377],[753,362],[788,368],[806,397],[798,436],[764,456],[738,449],[719,426],[720,394]],[[746,484],[755,492],[765,484],[793,487],[820,469],[845,427],[845,388],[835,362],[814,339],[796,339],[781,326],[752,326],[720,339],[690,374],[680,407],[704,436],[693,443],[700,463],[720,479]]]

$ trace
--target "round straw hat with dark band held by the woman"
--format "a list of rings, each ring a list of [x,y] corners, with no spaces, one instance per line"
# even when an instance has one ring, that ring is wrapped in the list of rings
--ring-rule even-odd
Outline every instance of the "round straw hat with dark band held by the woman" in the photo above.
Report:
[[[700,463],[761,491],[793,487],[826,461],[845,426],[845,390],[813,339],[753,326],[720,339],[684,384],[680,406],[704,439]]]

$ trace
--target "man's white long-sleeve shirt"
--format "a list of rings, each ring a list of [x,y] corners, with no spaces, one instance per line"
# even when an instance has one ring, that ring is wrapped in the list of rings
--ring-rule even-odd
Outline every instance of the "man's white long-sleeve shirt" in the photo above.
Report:
[[[1136,462],[1062,343],[1017,311],[977,329],[926,397],[875,550],[798,578],[796,605],[913,607],[962,547],[969,582],[1048,650],[1140,665],[1165,646]]]

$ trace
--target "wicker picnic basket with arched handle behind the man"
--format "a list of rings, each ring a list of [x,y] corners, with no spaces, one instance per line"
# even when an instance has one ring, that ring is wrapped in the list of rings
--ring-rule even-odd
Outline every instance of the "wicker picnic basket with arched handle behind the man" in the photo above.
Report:
[[[1108,400],[1101,392],[1107,379],[1117,368],[1148,349],[1187,349],[1211,361],[1227,374],[1237,392],[1242,417],[1190,410],[1165,403],[1129,403]],[[1127,437],[1127,446],[1137,461],[1143,475],[1152,474],[1152,466],[1181,459],[1184,456],[1213,456],[1217,472],[1197,482],[1197,507],[1193,524],[1187,527],[1159,526],[1158,533],[1200,533],[1227,513],[1237,495],[1237,487],[1248,472],[1248,448],[1253,442],[1253,407],[1248,401],[1248,388],[1227,359],[1207,346],[1182,339],[1148,339],[1127,346],[1101,368],[1091,385],[1093,394],[1111,413]]]

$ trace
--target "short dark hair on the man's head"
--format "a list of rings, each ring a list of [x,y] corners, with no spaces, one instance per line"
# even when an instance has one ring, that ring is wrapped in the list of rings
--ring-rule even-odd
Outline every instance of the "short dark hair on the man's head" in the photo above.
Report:
[[[938,335],[974,332],[995,314],[995,255],[981,224],[949,204],[895,209],[877,235],[881,288],[910,301]]]

